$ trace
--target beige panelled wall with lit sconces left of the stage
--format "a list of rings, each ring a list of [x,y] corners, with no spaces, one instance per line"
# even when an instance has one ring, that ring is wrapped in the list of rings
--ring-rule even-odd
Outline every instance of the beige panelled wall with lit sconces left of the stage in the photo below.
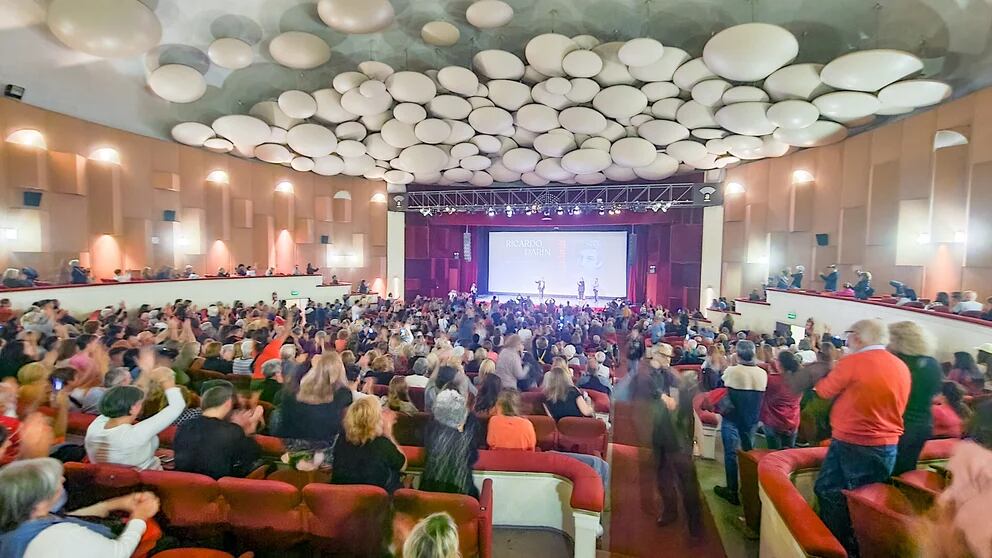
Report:
[[[344,281],[386,278],[386,206],[370,202],[383,182],[299,173],[0,100],[0,140],[25,128],[48,145],[0,141],[0,228],[17,230],[16,239],[0,234],[0,267],[30,265],[48,278],[69,258],[98,277],[146,265],[290,272],[313,262]],[[117,149],[121,165],[87,158],[100,147]],[[230,183],[207,182],[214,170]],[[275,192],[283,180],[293,194]],[[25,190],[43,193],[40,208],[24,207]],[[334,199],[342,192],[351,200]],[[163,220],[167,209],[178,223]]]

